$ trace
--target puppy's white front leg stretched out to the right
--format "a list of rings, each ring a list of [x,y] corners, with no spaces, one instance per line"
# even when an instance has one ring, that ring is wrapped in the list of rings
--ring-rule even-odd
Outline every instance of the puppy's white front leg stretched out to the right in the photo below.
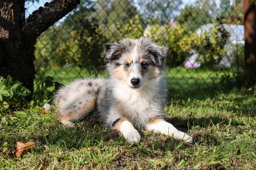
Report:
[[[145,130],[152,130],[157,133],[172,136],[174,139],[182,139],[184,142],[192,142],[192,137],[180,130],[177,130],[172,124],[164,121],[163,119],[154,119],[145,125]]]

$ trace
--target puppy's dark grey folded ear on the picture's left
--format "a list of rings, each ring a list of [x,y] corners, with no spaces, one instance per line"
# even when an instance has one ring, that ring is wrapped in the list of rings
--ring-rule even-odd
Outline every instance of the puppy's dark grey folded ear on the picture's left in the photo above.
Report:
[[[123,46],[117,43],[105,43],[104,44],[104,51],[105,51],[105,60],[106,61],[112,61],[115,59],[118,59],[122,52],[123,52]]]

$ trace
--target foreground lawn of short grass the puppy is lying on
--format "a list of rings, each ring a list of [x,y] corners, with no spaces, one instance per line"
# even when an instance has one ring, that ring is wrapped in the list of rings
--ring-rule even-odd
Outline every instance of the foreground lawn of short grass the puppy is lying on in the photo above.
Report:
[[[188,77],[189,85],[195,75],[192,71],[190,75],[179,71]],[[209,73],[197,72],[202,76],[199,79],[210,82],[205,77]],[[67,129],[58,122],[56,111],[40,110],[41,102],[23,111],[2,113],[0,169],[255,168],[256,90],[196,86],[200,90],[178,93],[173,82],[166,105],[166,120],[193,136],[191,144],[144,130],[140,130],[140,142],[127,143],[118,132],[94,124],[90,117],[76,122],[75,129]],[[12,151],[17,141],[38,144],[16,158]]]

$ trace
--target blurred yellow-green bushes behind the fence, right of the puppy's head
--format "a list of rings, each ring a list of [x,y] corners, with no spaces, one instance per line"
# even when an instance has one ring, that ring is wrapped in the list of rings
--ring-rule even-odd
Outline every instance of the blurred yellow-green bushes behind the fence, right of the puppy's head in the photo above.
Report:
[[[154,20],[157,18],[152,19]],[[190,57],[192,49],[196,51],[199,56],[197,60],[202,64],[218,64],[227,52],[224,46],[229,38],[229,33],[220,23],[216,23],[207,32],[199,35],[187,31],[179,24],[170,26],[156,22],[154,25],[148,25],[144,31],[139,16],[129,20],[129,23],[124,28],[120,28],[119,32],[122,33],[123,38],[139,38],[144,35],[161,45],[166,45],[169,48],[166,57],[168,66],[183,65],[184,61]]]

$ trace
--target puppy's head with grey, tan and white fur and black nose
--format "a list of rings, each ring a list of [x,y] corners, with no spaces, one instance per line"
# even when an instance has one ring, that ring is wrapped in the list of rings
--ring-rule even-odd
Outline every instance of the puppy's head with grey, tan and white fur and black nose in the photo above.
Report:
[[[150,38],[127,38],[120,43],[106,43],[105,60],[111,76],[124,81],[132,89],[141,88],[164,70],[168,48],[158,46]]]

